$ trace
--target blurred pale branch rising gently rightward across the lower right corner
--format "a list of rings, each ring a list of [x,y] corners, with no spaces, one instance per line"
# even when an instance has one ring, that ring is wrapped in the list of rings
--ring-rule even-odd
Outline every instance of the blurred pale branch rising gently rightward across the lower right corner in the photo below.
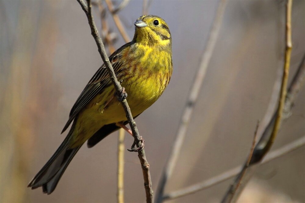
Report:
[[[264,164],[264,163],[270,162],[276,158],[282,157],[283,155],[286,155],[289,152],[294,151],[304,145],[305,145],[305,137],[301,137],[289,144],[282,146],[281,148],[279,148],[277,150],[270,152],[268,155],[266,155],[266,157],[263,159],[263,161],[260,164]],[[170,199],[176,199],[179,197],[183,197],[183,196],[193,194],[198,191],[210,188],[218,183],[224,182],[225,180],[228,180],[231,177],[237,175],[240,172],[241,168],[242,168],[242,166],[235,167],[231,170],[221,173],[218,176],[214,176],[201,183],[197,183],[192,186],[185,187],[183,189],[165,194],[163,196],[163,201],[170,200]]]

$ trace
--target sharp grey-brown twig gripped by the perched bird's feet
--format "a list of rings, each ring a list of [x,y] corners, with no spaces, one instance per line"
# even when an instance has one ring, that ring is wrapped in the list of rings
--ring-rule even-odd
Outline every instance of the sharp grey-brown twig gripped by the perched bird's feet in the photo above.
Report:
[[[99,54],[101,55],[102,57],[102,60],[105,64],[105,67],[106,67],[106,70],[109,74],[109,77],[113,83],[113,86],[117,92],[117,94],[121,94],[122,92],[122,87],[120,85],[120,83],[118,82],[117,80],[117,77],[115,76],[115,73],[113,71],[113,67],[109,61],[109,58],[106,54],[106,51],[105,51],[105,47],[102,43],[102,40],[101,38],[99,37],[99,32],[95,26],[95,22],[93,20],[93,17],[91,15],[91,4],[90,4],[90,0],[87,0],[87,5],[85,4],[85,2],[83,0],[77,0],[77,2],[81,5],[81,8],[84,10],[87,18],[88,18],[88,23],[89,23],[89,26],[90,26],[90,29],[91,29],[91,34],[96,42],[96,45],[98,46],[98,51],[99,51]],[[136,142],[136,145],[137,147],[140,147],[141,146],[141,139],[140,139],[140,135],[138,133],[138,129],[137,129],[137,126],[136,126],[136,123],[131,115],[131,110],[129,108],[129,105],[127,103],[127,100],[124,99],[122,102],[122,106],[125,110],[125,113],[126,113],[126,118],[128,120],[128,123],[131,127],[131,131],[132,131],[132,134],[135,138],[135,142]],[[141,162],[141,166],[142,166],[142,172],[143,172],[143,177],[144,177],[144,187],[145,187],[145,192],[146,192],[146,202],[152,202],[153,198],[152,198],[152,182],[151,182],[151,178],[150,178],[150,172],[149,172],[149,164],[146,160],[146,156],[145,156],[145,150],[141,150],[138,152],[138,157],[140,159],[140,162]]]

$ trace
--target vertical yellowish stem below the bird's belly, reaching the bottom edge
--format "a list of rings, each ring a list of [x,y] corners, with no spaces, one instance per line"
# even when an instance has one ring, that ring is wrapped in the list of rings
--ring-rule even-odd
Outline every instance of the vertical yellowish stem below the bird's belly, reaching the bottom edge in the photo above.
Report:
[[[117,202],[124,202],[124,136],[125,130],[120,128],[117,151]]]

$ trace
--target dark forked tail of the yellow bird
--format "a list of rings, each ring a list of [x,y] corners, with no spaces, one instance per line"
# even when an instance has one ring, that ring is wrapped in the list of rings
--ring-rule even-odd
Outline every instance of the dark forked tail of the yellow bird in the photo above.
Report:
[[[69,148],[69,141],[72,137],[73,128],[74,126],[71,127],[67,137],[53,156],[30,181],[28,187],[31,187],[32,189],[42,187],[42,191],[47,194],[51,194],[54,191],[63,172],[65,172],[70,161],[82,146]]]

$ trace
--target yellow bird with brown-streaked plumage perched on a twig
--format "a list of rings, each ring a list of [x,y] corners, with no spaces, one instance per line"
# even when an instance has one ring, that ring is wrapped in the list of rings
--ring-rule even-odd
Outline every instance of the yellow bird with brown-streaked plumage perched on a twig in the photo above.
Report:
[[[62,133],[71,128],[52,157],[29,182],[28,187],[42,187],[51,194],[74,155],[87,141],[88,148],[128,121],[120,103],[127,96],[133,118],[139,116],[161,96],[173,71],[172,38],[165,20],[155,15],[140,16],[132,41],[109,57],[114,73],[124,87],[121,97],[106,71],[100,66],[73,105]],[[127,92],[127,94],[125,94]]]

